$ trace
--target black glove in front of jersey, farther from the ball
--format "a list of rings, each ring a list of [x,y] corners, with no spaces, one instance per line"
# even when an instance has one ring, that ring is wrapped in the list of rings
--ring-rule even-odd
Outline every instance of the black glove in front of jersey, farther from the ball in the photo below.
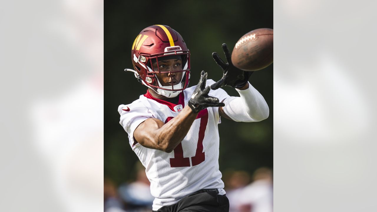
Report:
[[[219,99],[215,97],[208,96],[210,92],[210,86],[205,88],[205,82],[207,81],[207,73],[202,71],[201,77],[198,85],[195,88],[195,91],[192,93],[192,96],[189,100],[189,107],[194,113],[198,113],[202,109],[208,107],[224,107],[224,103],[219,103]]]

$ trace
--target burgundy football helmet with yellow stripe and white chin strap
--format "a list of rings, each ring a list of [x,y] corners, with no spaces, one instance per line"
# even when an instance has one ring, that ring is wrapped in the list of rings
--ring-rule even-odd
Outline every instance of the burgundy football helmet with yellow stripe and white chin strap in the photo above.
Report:
[[[177,56],[179,55],[179,56]],[[180,57],[182,59],[182,70],[160,71],[158,61]],[[153,25],[143,29],[133,41],[131,49],[132,64],[135,70],[132,71],[139,82],[152,88],[153,91],[166,97],[176,97],[187,88],[190,78],[190,51],[182,36],[165,25]],[[157,62],[157,70],[153,69],[153,62]],[[155,74],[184,72],[181,81],[176,85],[162,86]],[[173,81],[173,79],[172,79]]]

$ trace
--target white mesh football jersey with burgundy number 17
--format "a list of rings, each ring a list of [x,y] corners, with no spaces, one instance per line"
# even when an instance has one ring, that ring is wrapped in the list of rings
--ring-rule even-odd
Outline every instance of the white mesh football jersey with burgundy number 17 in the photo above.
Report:
[[[213,83],[215,81],[207,80],[207,86]],[[155,197],[153,210],[174,204],[201,189],[219,189],[219,194],[225,194],[218,162],[218,107],[200,111],[186,137],[170,153],[143,147],[133,139],[133,132],[147,118],[167,123],[176,117],[184,107],[188,107],[195,88],[182,91],[178,104],[156,99],[148,91],[133,103],[121,104],[118,108],[120,124],[128,133],[132,150],[146,167],[151,194]],[[229,97],[223,89],[210,90],[209,95],[220,101]]]

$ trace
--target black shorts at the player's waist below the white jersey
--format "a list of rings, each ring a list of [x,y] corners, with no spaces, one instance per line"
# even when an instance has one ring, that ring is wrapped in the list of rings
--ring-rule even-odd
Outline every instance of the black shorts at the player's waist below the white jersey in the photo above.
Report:
[[[229,212],[229,200],[218,189],[203,189],[189,194],[177,203],[153,212]]]

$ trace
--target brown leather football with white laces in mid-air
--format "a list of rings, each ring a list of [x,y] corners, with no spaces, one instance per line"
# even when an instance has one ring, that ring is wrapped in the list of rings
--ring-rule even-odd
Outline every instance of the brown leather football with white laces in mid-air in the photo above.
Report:
[[[274,30],[255,29],[242,36],[234,46],[232,63],[244,71],[257,71],[274,60]]]

